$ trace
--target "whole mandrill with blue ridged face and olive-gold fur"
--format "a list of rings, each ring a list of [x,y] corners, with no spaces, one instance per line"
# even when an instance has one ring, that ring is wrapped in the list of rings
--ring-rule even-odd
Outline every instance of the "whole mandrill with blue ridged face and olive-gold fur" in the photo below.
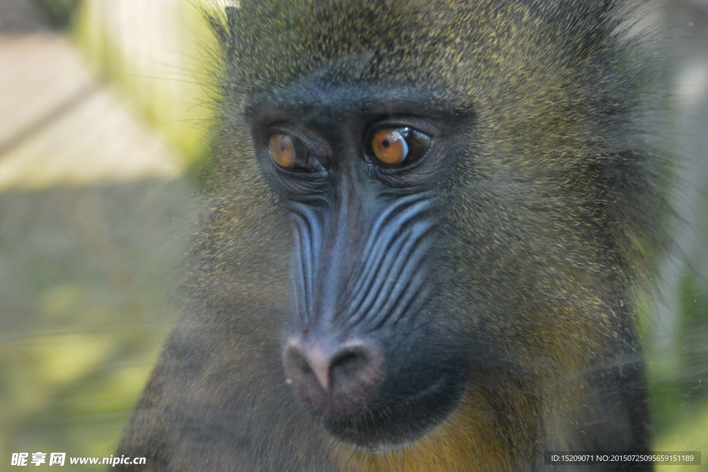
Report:
[[[147,464],[123,470],[649,451],[631,293],[660,236],[661,160],[626,3],[209,13],[217,190],[118,449]]]

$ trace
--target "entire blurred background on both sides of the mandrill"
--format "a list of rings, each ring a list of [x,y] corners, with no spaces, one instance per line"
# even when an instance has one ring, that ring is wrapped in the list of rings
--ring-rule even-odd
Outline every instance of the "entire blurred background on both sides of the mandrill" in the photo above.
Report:
[[[655,449],[708,464],[708,1],[664,3],[687,224],[641,332]],[[18,451],[110,455],[178,314],[209,170],[197,4],[0,0],[0,471]]]

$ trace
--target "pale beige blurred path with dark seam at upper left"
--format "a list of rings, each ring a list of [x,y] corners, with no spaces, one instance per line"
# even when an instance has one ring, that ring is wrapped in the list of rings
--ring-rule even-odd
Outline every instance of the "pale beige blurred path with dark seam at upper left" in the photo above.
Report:
[[[0,0],[0,189],[176,178],[178,162],[30,0]]]

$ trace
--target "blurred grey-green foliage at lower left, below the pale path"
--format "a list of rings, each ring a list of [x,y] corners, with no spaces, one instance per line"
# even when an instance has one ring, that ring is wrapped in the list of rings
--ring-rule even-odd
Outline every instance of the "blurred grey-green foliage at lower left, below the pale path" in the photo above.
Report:
[[[0,313],[14,315],[0,319],[0,456],[108,456],[178,315],[190,191],[147,179],[0,195]]]

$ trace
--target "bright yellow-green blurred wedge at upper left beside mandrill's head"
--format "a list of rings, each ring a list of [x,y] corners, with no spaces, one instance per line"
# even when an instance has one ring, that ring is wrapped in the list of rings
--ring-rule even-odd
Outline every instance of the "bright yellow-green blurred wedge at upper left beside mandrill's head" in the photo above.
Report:
[[[209,86],[212,81],[205,51],[214,39],[202,11],[193,1],[173,1],[169,8],[156,10],[169,13],[167,18],[149,15],[139,25],[109,24],[116,9],[106,1],[82,1],[74,26],[76,44],[97,76],[122,93],[183,156],[188,178],[207,183],[211,171],[207,125],[212,117],[208,104],[215,92]],[[150,24],[152,21],[156,24]],[[166,45],[162,49],[155,46],[155,38]]]

